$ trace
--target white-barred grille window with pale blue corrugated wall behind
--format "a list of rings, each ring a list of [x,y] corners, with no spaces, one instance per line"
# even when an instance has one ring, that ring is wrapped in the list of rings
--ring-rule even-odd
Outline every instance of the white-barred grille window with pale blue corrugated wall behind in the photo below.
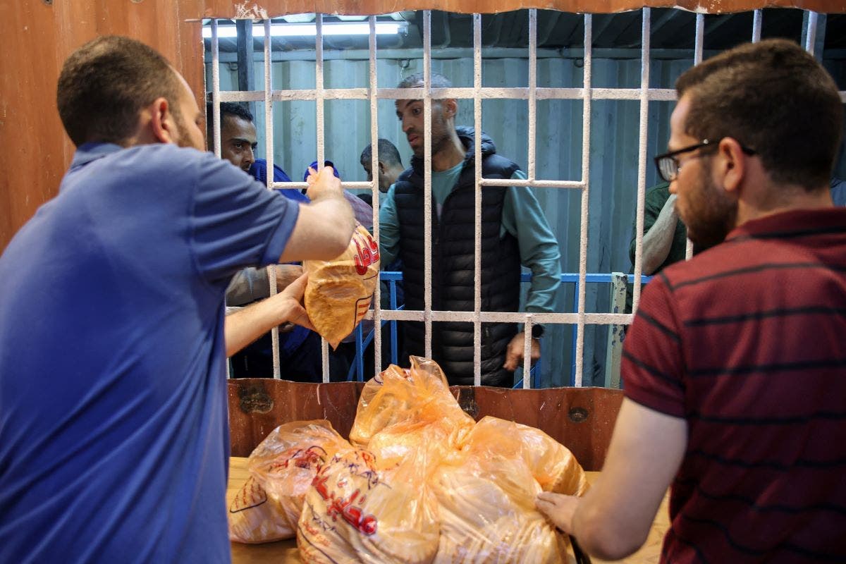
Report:
[[[618,386],[619,329],[629,324],[633,315],[613,311],[607,294],[617,280],[619,296],[620,281],[626,280],[611,273],[629,271],[628,243],[634,223],[638,235],[628,279],[633,283],[635,308],[640,299],[644,197],[646,189],[656,183],[650,157],[661,152],[667,142],[674,79],[703,57],[741,41],[758,41],[762,29],[769,30],[765,24],[770,14],[770,35],[800,33],[795,38],[803,41],[808,51],[822,55],[826,16],[799,10],[713,16],[668,8],[597,15],[536,9],[496,15],[431,11],[369,17],[299,14],[255,25],[239,20],[237,26],[212,19],[204,36],[215,108],[209,118],[218,124],[214,148],[219,156],[219,102],[255,104],[257,126],[264,131],[260,152],[266,156],[268,171],[275,162],[283,161],[297,181],[309,162],[331,159],[341,169],[344,188],[370,192],[373,232],[379,238],[382,194],[377,178],[372,182],[357,179],[364,175],[358,157],[365,145],[372,144],[371,170],[376,176],[380,137],[393,140],[407,155],[409,148],[393,117],[393,104],[422,99],[426,116],[425,307],[419,311],[382,309],[377,287],[375,307],[367,319],[376,326],[382,321],[423,321],[427,356],[431,356],[431,336],[440,322],[473,323],[476,385],[480,384],[481,324],[525,324],[525,376],[519,382],[525,388],[536,385],[529,377],[530,329],[542,323],[548,329],[541,356],[547,373],[537,381]],[[416,31],[420,32],[419,47],[400,45],[403,41],[398,37]],[[514,39],[500,41],[508,34]],[[254,55],[254,37],[263,45],[263,53]],[[233,69],[227,67],[234,62],[233,38],[239,38],[239,47],[248,47],[242,67],[246,62],[253,68],[258,59],[254,68],[257,86],[235,89]],[[547,47],[551,38],[567,42],[568,47]],[[327,44],[332,48],[327,50]],[[221,45],[229,48],[222,53]],[[838,53],[827,65],[843,85],[846,72]],[[434,67],[453,79],[454,86],[432,87]],[[496,79],[487,76],[488,70]],[[396,88],[399,79],[416,71],[425,76],[422,90]],[[846,94],[841,92],[841,96],[846,100]],[[473,310],[460,312],[433,309],[431,301],[431,106],[447,98],[459,100],[463,109],[456,123],[472,125],[476,141],[475,300]],[[481,178],[480,136],[490,127],[499,128],[503,145],[508,147],[500,152],[525,163],[526,180]],[[838,170],[843,174],[844,169],[841,159]],[[272,174],[268,178],[269,189],[306,186],[304,182],[273,183]],[[562,249],[565,272],[556,313],[491,312],[481,307],[481,190],[494,186],[530,187],[544,205]],[[690,252],[688,246],[688,256]],[[611,264],[605,255],[612,257]],[[270,286],[273,292],[275,284]],[[279,378],[283,374],[276,330],[272,338],[273,375]],[[382,331],[374,331],[372,339],[376,370],[380,370],[384,368],[380,366],[382,348],[391,346],[393,338],[383,342]],[[602,351],[606,346],[608,350]],[[328,381],[326,342],[322,359],[323,381]],[[604,364],[608,374],[602,381],[594,376],[597,364]],[[360,373],[360,359],[358,367]]]

